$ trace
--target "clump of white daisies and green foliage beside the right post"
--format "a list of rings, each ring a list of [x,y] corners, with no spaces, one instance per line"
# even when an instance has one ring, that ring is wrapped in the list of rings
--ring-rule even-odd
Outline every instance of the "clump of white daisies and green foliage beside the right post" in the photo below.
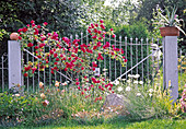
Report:
[[[130,120],[142,120],[149,118],[178,118],[182,114],[179,104],[173,104],[170,89],[164,90],[154,86],[143,86],[137,81],[139,75],[130,75],[127,82],[117,83],[116,93],[124,95],[125,104]]]

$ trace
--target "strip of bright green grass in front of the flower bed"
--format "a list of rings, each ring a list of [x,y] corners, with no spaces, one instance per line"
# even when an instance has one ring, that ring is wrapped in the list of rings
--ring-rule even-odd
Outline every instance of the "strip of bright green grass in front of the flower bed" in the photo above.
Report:
[[[125,120],[113,120],[98,125],[78,125],[73,121],[44,127],[14,127],[10,129],[184,129],[186,120],[150,119],[144,121],[129,122]]]

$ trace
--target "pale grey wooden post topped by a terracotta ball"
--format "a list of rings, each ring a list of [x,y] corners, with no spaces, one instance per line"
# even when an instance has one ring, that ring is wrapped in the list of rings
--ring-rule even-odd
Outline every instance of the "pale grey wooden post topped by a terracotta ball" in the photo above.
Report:
[[[9,57],[9,89],[16,84],[22,85],[21,81],[21,47],[16,40],[8,42]]]

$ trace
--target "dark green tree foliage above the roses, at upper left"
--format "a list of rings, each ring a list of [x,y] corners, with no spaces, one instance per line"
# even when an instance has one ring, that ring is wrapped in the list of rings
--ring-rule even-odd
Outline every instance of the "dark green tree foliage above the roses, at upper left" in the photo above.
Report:
[[[23,24],[34,20],[38,24],[51,23],[50,30],[68,35],[78,31],[77,20],[84,15],[79,0],[8,0],[0,4],[0,26],[9,32],[18,31]]]

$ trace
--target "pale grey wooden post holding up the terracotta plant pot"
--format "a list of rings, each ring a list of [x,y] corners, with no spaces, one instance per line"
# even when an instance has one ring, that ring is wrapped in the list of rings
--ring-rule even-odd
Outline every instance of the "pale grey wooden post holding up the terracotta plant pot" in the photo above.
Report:
[[[178,97],[177,36],[164,36],[163,47],[164,87],[167,89],[171,84],[171,96],[176,102]]]

